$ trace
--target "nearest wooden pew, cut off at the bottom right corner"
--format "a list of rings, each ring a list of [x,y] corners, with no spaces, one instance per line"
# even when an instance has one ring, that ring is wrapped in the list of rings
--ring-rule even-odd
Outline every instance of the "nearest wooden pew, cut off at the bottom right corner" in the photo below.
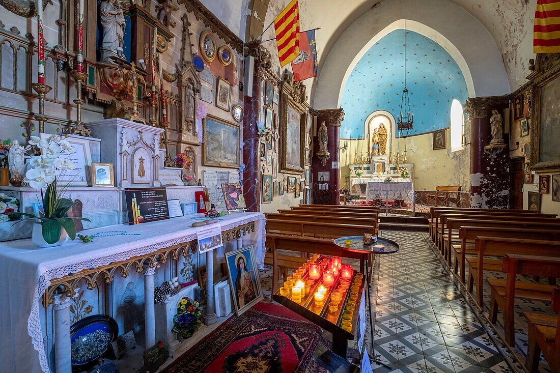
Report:
[[[542,264],[544,263],[543,260]],[[557,316],[523,313],[529,323],[529,341],[525,360],[525,367],[529,373],[538,371],[541,351],[552,372],[560,372],[560,290],[558,289],[554,289],[552,293],[551,307],[553,311],[558,312]]]

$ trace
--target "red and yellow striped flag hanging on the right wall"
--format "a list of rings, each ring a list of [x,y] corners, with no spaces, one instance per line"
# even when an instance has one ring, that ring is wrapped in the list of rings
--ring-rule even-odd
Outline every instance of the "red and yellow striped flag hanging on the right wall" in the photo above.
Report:
[[[538,0],[533,26],[533,52],[560,52],[560,0]]]

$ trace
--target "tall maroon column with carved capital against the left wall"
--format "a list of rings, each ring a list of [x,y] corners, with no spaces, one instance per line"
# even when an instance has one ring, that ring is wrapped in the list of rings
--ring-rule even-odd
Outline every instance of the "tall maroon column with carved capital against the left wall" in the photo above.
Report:
[[[243,99],[243,197],[248,211],[260,211],[260,157],[259,157],[259,131],[256,121],[260,120],[262,109],[260,86],[264,79],[264,71],[272,66],[270,53],[260,45],[260,40],[245,44],[251,55],[255,58],[255,72],[253,76],[253,96]],[[208,271],[209,272],[209,271]]]

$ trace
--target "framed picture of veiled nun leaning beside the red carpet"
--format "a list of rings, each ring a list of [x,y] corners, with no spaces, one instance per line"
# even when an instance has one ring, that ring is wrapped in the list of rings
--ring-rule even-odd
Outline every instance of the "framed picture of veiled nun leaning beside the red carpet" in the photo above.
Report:
[[[226,253],[226,268],[235,313],[239,316],[263,299],[253,246]]]

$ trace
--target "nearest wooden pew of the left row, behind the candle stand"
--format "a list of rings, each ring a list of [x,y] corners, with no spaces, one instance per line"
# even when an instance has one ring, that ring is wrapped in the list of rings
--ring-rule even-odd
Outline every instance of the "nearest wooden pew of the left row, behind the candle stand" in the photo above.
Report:
[[[321,253],[324,255],[336,255],[338,257],[360,259],[360,272],[363,272],[363,265],[367,255],[358,253],[351,249],[344,249],[333,243],[332,240],[316,239],[311,237],[297,237],[287,235],[267,235],[267,240],[272,243],[273,263],[277,263],[278,250],[300,251],[302,253]],[[278,288],[278,270],[276,265],[272,266],[272,292]]]

